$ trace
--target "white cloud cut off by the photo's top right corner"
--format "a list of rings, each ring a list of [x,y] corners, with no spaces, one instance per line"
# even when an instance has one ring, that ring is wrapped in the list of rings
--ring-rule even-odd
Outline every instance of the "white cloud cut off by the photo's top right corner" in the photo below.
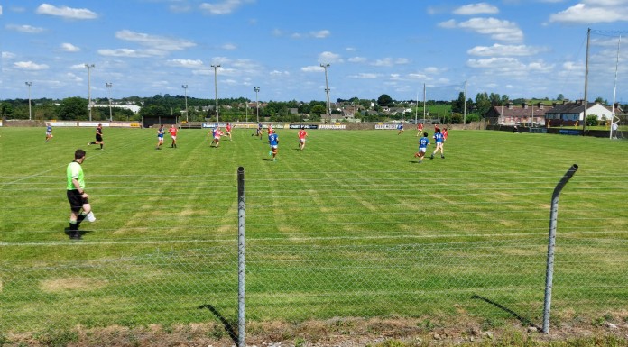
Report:
[[[550,15],[550,22],[558,23],[613,23],[628,21],[628,1],[588,0]]]

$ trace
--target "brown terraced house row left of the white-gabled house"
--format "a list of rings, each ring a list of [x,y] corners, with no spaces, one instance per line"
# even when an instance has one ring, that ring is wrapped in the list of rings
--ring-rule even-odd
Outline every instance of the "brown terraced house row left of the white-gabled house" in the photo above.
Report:
[[[507,103],[502,106],[493,106],[486,113],[486,117],[497,118],[497,123],[500,125],[544,124],[545,114],[549,109],[550,107],[543,103],[528,105],[524,102],[518,106]]]

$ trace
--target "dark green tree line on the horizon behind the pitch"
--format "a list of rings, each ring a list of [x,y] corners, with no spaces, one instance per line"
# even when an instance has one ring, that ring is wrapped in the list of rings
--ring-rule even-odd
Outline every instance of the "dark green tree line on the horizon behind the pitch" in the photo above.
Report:
[[[535,99],[551,105],[552,102],[562,101],[564,96],[559,94],[555,100],[545,97]],[[416,105],[415,100],[394,100],[391,96],[383,94],[377,99],[361,99],[357,96],[342,99],[338,98],[331,107],[331,114],[338,115],[345,110],[353,112],[353,118],[364,122],[383,122],[389,120],[408,120],[415,117],[437,120],[439,123],[470,123],[482,119],[485,113],[493,106],[522,105],[530,100],[513,99],[507,95],[495,93],[477,93],[476,99],[466,99],[460,92],[455,100],[426,100],[425,109],[423,103]],[[607,104],[601,97],[596,102]],[[97,105],[109,105],[107,98],[93,100]],[[120,105],[136,105],[140,107],[138,114],[121,107]],[[187,105],[187,109],[186,109]],[[325,101],[311,100],[302,102],[291,101],[267,101],[260,102],[260,121],[272,122],[319,122],[321,116],[327,114]],[[391,112],[391,108],[397,108]],[[626,105],[624,105],[624,109]],[[186,111],[187,110],[187,111]],[[155,95],[151,97],[130,96],[112,100],[111,111],[109,107],[92,107],[91,119],[94,121],[106,121],[111,117],[114,121],[140,121],[143,117],[172,117],[177,116],[180,121],[189,122],[212,121],[219,116],[225,122],[256,122],[258,109],[255,102],[244,98],[220,98],[218,110],[215,99],[205,99],[185,96]],[[0,103],[0,116],[3,119],[29,119],[34,120],[88,120],[88,99],[79,96],[55,100],[39,98],[31,100],[29,113],[28,99],[7,99]]]

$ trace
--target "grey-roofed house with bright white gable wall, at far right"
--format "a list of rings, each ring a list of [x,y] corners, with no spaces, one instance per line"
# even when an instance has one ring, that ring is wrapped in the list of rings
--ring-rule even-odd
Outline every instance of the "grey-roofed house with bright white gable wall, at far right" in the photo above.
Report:
[[[615,113],[622,113],[622,109],[619,108],[619,104],[615,104]],[[598,121],[604,121],[611,119],[613,109],[611,107],[592,103],[586,104],[586,116],[596,115]],[[561,105],[554,104],[546,114],[546,119],[550,124],[558,125],[571,125],[577,121],[585,119],[585,102],[584,100],[577,100],[576,102],[565,102]]]

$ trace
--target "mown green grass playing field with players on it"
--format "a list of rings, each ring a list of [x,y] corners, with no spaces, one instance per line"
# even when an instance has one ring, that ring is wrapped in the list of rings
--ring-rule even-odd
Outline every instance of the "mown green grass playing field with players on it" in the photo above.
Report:
[[[92,129],[57,128],[50,143],[43,129],[0,129],[0,331],[233,322],[238,167],[252,321],[539,325],[551,194],[574,163],[553,323],[626,319],[628,142],[452,131],[446,159],[419,164],[413,131],[310,130],[298,151],[296,131],[279,130],[273,162],[252,132],[215,149],[207,131],[182,130],[177,149],[156,151],[155,130],[105,129],[101,151],[86,146]],[[79,242],[64,233],[77,148],[97,216]]]

